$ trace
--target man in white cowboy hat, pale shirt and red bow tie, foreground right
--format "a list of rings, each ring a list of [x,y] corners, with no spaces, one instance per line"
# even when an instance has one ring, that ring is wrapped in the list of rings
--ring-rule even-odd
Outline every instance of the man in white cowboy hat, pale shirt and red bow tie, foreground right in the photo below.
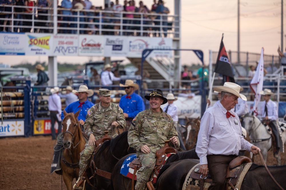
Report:
[[[231,111],[238,98],[247,100],[239,93],[240,86],[225,82],[223,86],[214,87],[213,90],[221,92],[221,101],[208,108],[202,116],[196,145],[196,153],[200,158],[200,174],[206,177],[209,170],[212,178],[209,190],[224,189],[225,171],[231,160],[238,156],[240,149],[245,148],[253,154],[260,151],[241,136],[239,117]]]

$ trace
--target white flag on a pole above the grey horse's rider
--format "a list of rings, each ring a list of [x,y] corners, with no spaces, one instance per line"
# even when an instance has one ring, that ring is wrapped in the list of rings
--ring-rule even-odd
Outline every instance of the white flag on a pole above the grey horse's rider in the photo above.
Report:
[[[250,82],[250,88],[255,93],[255,99],[254,99],[254,105],[253,105],[253,111],[254,111],[255,115],[257,115],[257,106],[258,106],[260,99],[261,99],[261,94],[259,94],[259,92],[263,88],[263,77],[264,77],[264,70],[263,70],[264,53],[263,53],[263,51],[264,51],[264,49],[261,48],[260,60],[259,60],[259,63],[257,65],[255,74],[254,74],[254,76]]]

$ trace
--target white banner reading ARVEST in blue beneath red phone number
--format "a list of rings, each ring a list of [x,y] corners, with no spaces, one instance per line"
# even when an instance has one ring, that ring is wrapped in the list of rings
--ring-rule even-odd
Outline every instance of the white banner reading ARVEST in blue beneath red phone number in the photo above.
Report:
[[[53,36],[54,56],[78,56],[78,35],[57,34]]]

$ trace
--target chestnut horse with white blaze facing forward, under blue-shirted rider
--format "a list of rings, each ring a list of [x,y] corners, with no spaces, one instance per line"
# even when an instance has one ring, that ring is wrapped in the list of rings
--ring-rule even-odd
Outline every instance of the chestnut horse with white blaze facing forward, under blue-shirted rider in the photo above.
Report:
[[[86,141],[82,136],[80,124],[78,122],[77,113],[66,113],[62,121],[63,125],[63,153],[61,155],[61,169],[63,170],[63,181],[67,186],[67,190],[72,190],[72,181],[74,178],[78,179],[80,162],[80,152],[84,150]]]

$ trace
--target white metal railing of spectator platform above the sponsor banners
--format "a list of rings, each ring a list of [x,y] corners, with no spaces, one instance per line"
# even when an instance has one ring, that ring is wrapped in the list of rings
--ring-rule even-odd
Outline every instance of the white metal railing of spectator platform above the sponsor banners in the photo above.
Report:
[[[57,33],[71,34],[99,34],[99,35],[135,35],[135,36],[165,36],[173,37],[179,34],[178,15],[166,15],[156,13],[132,13],[134,18],[123,17],[130,12],[104,11],[104,10],[78,10],[58,8],[57,15],[53,15],[53,8],[29,7],[17,5],[5,5],[12,7],[12,11],[0,11],[2,15],[11,15],[11,18],[3,18],[9,21],[6,25],[0,23],[0,27],[5,27],[10,32],[45,32],[53,33],[53,26],[57,27]],[[28,12],[15,12],[15,8],[32,9]],[[63,11],[65,11],[63,14]],[[71,11],[70,13],[66,11]],[[67,15],[67,13],[69,15]],[[16,17],[19,14],[20,17]],[[120,17],[115,17],[119,14]],[[57,21],[53,22],[53,17]],[[5,17],[5,16],[4,16]],[[157,19],[159,17],[160,19]],[[43,19],[45,18],[45,19]],[[116,22],[114,22],[116,21]],[[18,22],[23,22],[17,25]],[[90,26],[90,27],[88,27]],[[16,29],[16,30],[15,30]],[[176,29],[176,30],[175,30]]]

